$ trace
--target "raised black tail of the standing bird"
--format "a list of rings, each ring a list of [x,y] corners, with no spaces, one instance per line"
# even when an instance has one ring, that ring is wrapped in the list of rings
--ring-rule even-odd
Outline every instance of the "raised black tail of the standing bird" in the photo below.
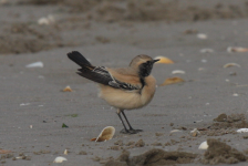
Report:
[[[92,66],[92,64],[79,51],[69,52],[68,58],[79,64],[82,69]]]

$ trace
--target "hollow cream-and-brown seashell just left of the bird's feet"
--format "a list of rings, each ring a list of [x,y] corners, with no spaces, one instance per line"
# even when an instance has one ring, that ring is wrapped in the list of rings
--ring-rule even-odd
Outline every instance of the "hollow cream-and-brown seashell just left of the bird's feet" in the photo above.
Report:
[[[100,133],[100,135],[96,138],[92,138],[92,142],[105,142],[113,138],[115,133],[115,128],[113,126],[106,126],[103,128],[103,131]]]

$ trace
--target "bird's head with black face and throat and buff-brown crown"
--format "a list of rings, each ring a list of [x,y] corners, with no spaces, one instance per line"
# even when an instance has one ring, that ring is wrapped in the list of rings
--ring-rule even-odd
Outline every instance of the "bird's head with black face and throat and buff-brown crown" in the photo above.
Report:
[[[141,77],[146,77],[151,74],[153,64],[157,61],[159,61],[159,59],[153,60],[148,55],[141,54],[131,61],[130,66],[136,70]]]

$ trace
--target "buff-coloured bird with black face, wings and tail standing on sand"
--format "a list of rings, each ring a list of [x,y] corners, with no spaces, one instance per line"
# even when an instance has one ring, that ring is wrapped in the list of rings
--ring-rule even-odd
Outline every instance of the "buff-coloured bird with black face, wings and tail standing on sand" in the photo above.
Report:
[[[124,128],[123,134],[136,134],[143,129],[134,129],[124,111],[146,106],[156,91],[156,80],[151,74],[154,63],[159,59],[148,55],[136,55],[127,68],[106,68],[92,65],[79,51],[68,53],[68,58],[81,69],[78,74],[99,84],[99,97],[117,110]],[[125,118],[128,129],[123,121]]]

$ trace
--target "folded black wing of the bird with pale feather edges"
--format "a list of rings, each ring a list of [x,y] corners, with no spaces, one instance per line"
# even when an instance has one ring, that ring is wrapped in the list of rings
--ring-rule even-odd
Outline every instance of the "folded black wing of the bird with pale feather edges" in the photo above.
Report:
[[[78,74],[80,74],[81,76],[104,85],[112,86],[114,89],[121,89],[125,91],[134,91],[141,89],[140,85],[132,85],[130,83],[116,80],[105,66],[94,66],[94,69],[82,68],[79,69],[79,71],[80,72],[78,72]]]

